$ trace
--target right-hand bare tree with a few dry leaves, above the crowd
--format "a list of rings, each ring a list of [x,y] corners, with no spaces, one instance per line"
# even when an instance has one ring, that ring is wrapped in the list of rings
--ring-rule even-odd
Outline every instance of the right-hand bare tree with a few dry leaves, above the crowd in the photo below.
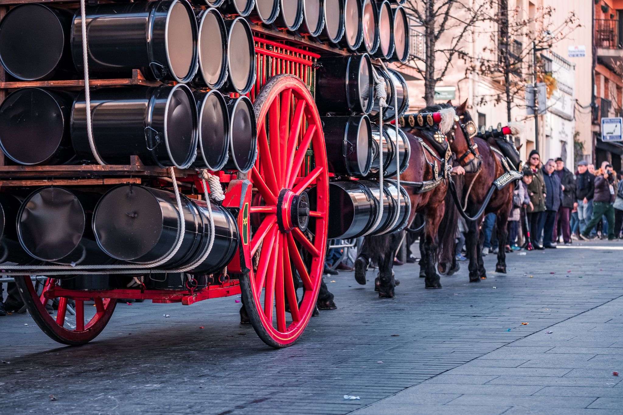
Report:
[[[490,27],[493,29],[479,35],[488,34],[493,46],[484,47],[483,56],[468,65],[467,72],[490,78],[503,78],[502,90],[492,95],[480,96],[477,104],[503,103],[508,121],[513,121],[511,110],[526,106],[523,98],[528,83],[526,78],[530,78],[534,71],[533,51],[550,49],[581,25],[573,12],[563,21],[554,23],[556,9],[551,6],[538,7],[533,16],[530,16],[520,7],[509,9],[508,0],[490,0],[489,3],[490,16],[487,19],[492,23]],[[551,69],[539,56],[536,57],[536,78],[537,82],[548,85],[549,93],[556,88],[556,79],[552,76]]]

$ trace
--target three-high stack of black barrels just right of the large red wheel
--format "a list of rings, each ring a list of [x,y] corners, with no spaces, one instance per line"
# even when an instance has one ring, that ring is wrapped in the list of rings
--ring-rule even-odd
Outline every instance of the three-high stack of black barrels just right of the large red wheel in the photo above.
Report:
[[[370,9],[376,11],[374,7]],[[383,120],[373,72],[381,79],[389,105],[383,108]],[[366,233],[379,235],[402,230],[409,220],[411,203],[406,190],[389,178],[398,170],[402,173],[407,169],[411,146],[401,129],[396,136],[391,124],[381,128],[381,121],[393,121],[409,106],[402,75],[391,68],[373,65],[367,52],[320,58],[316,105],[321,113],[330,170],[343,179],[330,184],[329,238],[356,238]],[[383,177],[388,178],[383,180],[383,197],[380,182],[376,180],[381,167]],[[381,219],[373,229],[379,215]]]

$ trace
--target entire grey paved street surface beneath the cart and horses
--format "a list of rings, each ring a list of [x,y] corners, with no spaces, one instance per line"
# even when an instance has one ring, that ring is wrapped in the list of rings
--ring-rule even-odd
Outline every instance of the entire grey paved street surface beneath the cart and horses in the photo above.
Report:
[[[465,264],[441,290],[397,267],[394,300],[373,273],[327,277],[340,308],[284,350],[238,324],[234,298],[119,304],[83,347],[1,317],[0,413],[620,414],[623,244],[586,245],[608,249],[509,254],[480,284]]]

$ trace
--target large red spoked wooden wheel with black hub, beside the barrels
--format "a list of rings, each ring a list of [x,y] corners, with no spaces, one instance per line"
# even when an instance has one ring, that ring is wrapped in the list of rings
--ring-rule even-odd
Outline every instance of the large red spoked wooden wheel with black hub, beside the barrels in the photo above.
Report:
[[[255,332],[267,345],[281,348],[293,345],[305,330],[320,289],[329,198],[325,136],[310,91],[293,75],[271,78],[254,107],[259,156],[250,180],[263,203],[253,198],[250,213],[261,221],[250,248],[252,256],[259,251],[259,261],[240,286]],[[310,146],[314,162],[307,172],[303,161]],[[316,210],[310,212],[305,190],[313,185]],[[314,222],[315,235],[307,230],[308,221]],[[302,299],[293,270],[302,281]]]

